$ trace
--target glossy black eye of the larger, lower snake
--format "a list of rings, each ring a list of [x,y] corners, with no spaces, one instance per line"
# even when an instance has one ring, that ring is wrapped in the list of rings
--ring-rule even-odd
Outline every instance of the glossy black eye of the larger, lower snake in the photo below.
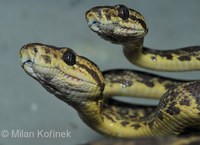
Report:
[[[62,56],[63,61],[70,65],[73,66],[76,63],[76,55],[72,50],[67,50]]]

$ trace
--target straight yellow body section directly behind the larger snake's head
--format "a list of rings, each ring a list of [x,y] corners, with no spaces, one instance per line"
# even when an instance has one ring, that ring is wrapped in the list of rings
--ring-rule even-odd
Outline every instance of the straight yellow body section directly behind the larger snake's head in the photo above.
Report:
[[[103,76],[105,79],[104,97],[134,96],[148,99],[160,99],[168,89],[189,81],[170,79],[128,69],[104,71]]]

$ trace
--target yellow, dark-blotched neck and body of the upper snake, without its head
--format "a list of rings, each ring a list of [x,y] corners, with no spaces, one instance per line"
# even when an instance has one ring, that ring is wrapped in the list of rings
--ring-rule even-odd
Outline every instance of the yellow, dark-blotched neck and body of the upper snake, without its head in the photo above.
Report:
[[[200,46],[173,50],[143,47],[143,38],[123,43],[127,59],[146,69],[157,71],[192,71],[200,69]]]

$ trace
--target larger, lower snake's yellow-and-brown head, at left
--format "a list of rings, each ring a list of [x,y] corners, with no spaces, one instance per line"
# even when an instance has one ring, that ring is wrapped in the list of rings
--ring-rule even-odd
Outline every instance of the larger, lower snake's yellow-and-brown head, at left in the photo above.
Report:
[[[70,48],[30,43],[20,50],[22,68],[65,102],[99,96],[104,80],[99,68]]]

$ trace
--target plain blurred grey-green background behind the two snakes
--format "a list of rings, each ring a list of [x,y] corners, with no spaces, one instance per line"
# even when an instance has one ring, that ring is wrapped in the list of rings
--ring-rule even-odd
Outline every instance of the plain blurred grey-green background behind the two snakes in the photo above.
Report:
[[[0,145],[76,145],[104,137],[87,127],[77,112],[24,73],[19,50],[31,42],[67,46],[93,60],[101,70],[133,68],[121,46],[89,30],[85,12],[120,0],[0,0],[0,131],[70,131],[69,138],[3,138]],[[199,0],[124,0],[141,12],[149,27],[145,46],[174,49],[200,45]],[[144,70],[147,71],[147,70]],[[199,79],[199,72],[159,73],[180,79]]]

